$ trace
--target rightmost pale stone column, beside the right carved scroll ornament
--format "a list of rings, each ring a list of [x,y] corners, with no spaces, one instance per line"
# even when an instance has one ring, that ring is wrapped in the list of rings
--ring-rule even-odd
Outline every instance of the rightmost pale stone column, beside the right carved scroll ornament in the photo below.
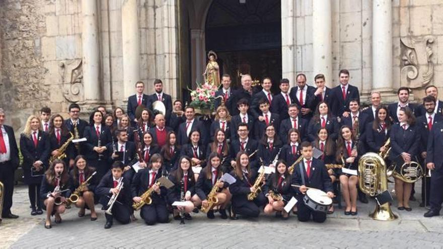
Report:
[[[373,89],[392,92],[392,4],[373,0],[372,75]]]

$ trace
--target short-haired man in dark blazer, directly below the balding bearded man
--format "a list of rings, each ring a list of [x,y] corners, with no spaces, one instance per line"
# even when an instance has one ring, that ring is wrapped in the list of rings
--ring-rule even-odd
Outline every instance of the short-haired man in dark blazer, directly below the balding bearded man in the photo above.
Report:
[[[280,140],[283,144],[287,143],[287,132],[291,128],[295,128],[300,132],[300,140],[308,140],[308,121],[299,117],[299,106],[295,103],[290,104],[288,110],[289,118],[283,120],[280,125],[280,131],[278,133]],[[296,125],[296,126],[294,126]]]

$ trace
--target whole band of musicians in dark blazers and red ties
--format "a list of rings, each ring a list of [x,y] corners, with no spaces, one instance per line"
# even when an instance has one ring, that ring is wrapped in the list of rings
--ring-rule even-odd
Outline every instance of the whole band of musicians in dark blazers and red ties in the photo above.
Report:
[[[105,228],[110,228],[114,219],[122,224],[134,220],[133,205],[151,190],[151,203],[137,208],[147,225],[169,222],[171,213],[176,220],[191,220],[191,213],[201,209],[210,219],[216,212],[222,219],[258,217],[263,210],[281,219],[293,212],[300,221],[312,217],[324,222],[333,206],[327,213],[310,209],[304,202],[307,190],[322,190],[329,198],[340,195],[344,214],[356,215],[357,198],[363,203],[367,199],[358,188],[357,175],[341,168],[357,170],[366,152],[386,153],[388,138],[388,164],[418,161],[432,170],[431,178],[423,181],[421,205],[430,206],[425,217],[438,215],[443,201],[443,157],[438,156],[443,151],[443,103],[437,88],[426,87],[420,104],[409,102],[408,88],[399,88],[398,102],[388,106],[381,104],[380,93],[373,92],[371,105],[361,108],[358,89],[349,84],[349,71],[342,69],[338,76],[340,85],[330,89],[325,76],[316,75],[315,88],[300,73],[295,87],[283,78],[280,92],[272,95],[275,83],[268,77],[260,90],[253,91],[250,75],[243,75],[240,88],[233,89],[231,76],[224,74],[215,94],[215,113],[204,117],[197,117],[190,106],[183,109],[180,100],[172,102],[160,79],[149,96],[143,94],[144,83],[136,82],[126,112],[117,107],[111,113],[99,106],[89,122],[79,118],[78,104],[69,106],[66,120],[44,107],[40,117],[28,118],[20,136],[31,215],[46,210],[44,225],[51,228],[52,216],[60,223],[60,214],[75,206],[79,217],[90,212],[94,221],[95,204],[101,203],[107,210]],[[164,114],[154,110],[157,101],[163,103]],[[19,151],[5,118],[0,109],[2,217],[17,218],[11,206]],[[82,138],[86,139],[79,142]],[[320,156],[314,156],[316,150]],[[325,166],[337,164],[341,167]],[[264,167],[275,173],[263,176]],[[221,181],[224,174],[235,182]],[[173,187],[160,185],[162,177]],[[413,184],[394,179],[397,209],[411,211]],[[287,212],[284,207],[292,198],[298,202]],[[175,202],[182,205],[173,206]]]

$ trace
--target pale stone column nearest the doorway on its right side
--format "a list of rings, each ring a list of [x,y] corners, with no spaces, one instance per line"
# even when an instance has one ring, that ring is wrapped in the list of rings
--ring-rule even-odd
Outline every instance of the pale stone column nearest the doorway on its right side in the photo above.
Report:
[[[312,1],[313,76],[323,73],[332,87],[332,8],[330,0]]]

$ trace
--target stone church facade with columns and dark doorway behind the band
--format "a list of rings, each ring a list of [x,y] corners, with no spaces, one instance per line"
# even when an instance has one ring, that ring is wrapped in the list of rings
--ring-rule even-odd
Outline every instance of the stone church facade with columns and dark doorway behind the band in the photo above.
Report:
[[[124,107],[137,80],[150,94],[156,78],[186,101],[209,50],[237,85],[304,72],[333,87],[346,68],[364,101],[395,101],[401,86],[419,100],[443,90],[441,13],[443,0],[4,0],[0,107],[19,130],[43,106]]]

